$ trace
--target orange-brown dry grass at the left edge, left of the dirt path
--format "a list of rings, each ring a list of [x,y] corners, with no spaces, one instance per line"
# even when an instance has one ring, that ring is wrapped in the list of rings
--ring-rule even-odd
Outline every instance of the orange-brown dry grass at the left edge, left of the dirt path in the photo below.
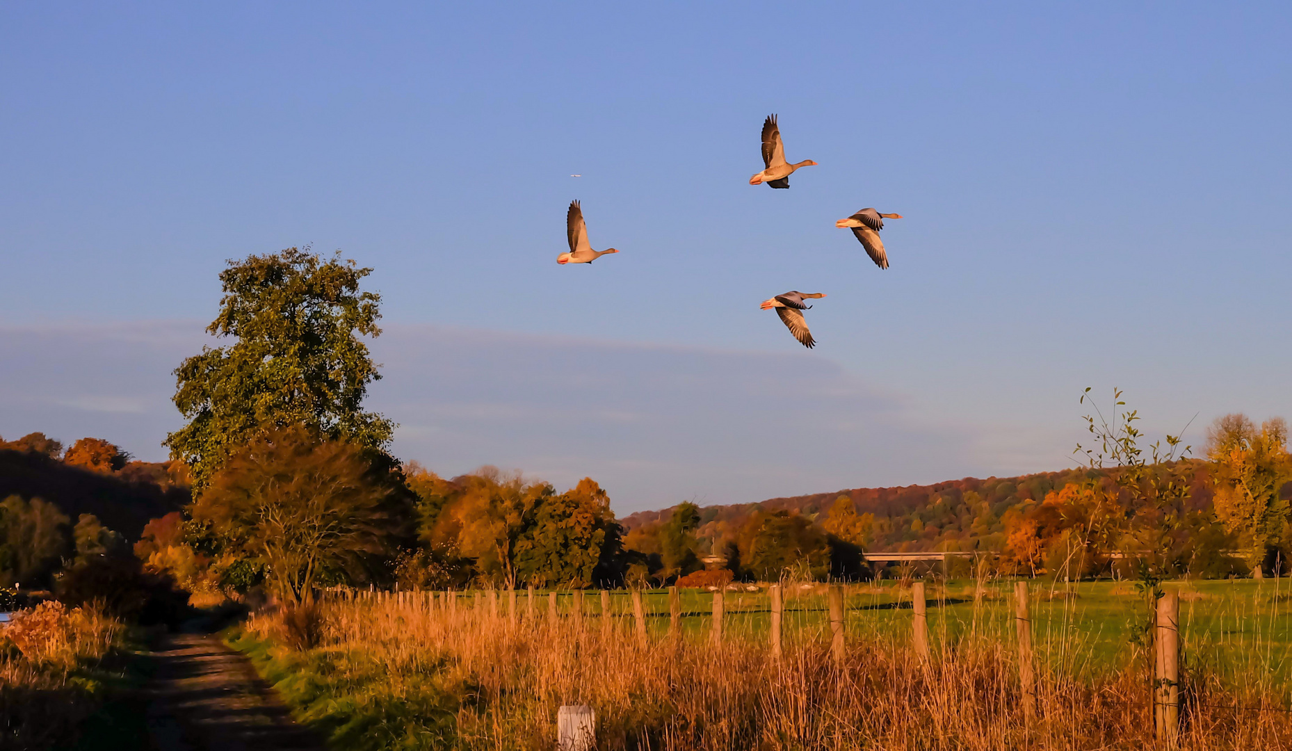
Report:
[[[43,602],[0,629],[0,748],[54,748],[75,739],[99,703],[81,670],[120,644],[121,624],[90,608]]]

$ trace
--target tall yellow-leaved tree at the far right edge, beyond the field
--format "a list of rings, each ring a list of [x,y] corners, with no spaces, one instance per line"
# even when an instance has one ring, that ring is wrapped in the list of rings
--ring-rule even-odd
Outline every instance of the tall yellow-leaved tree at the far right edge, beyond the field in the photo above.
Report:
[[[1288,521],[1288,500],[1280,496],[1292,480],[1287,432],[1283,418],[1266,420],[1257,430],[1243,414],[1225,415],[1207,430],[1216,516],[1239,535],[1253,571],[1266,549],[1282,542]]]

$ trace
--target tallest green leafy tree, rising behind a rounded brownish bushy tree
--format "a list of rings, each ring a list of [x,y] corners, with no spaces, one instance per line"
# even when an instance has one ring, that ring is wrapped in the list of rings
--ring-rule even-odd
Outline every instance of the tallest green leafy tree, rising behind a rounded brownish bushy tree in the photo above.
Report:
[[[174,371],[176,406],[189,423],[165,446],[202,490],[238,447],[262,430],[306,425],[382,451],[394,424],[364,412],[380,379],[360,336],[377,336],[380,295],[362,292],[360,269],[309,248],[230,261],[220,274],[220,314],[207,327],[227,346],[203,348]]]

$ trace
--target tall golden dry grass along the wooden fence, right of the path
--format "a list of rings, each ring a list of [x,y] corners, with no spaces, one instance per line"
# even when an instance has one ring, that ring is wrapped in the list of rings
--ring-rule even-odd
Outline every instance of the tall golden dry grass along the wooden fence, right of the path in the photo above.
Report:
[[[943,644],[925,661],[899,639],[854,629],[836,664],[813,629],[793,632],[778,661],[761,640],[739,633],[718,645],[695,636],[641,644],[630,617],[607,628],[599,615],[539,610],[513,620],[487,601],[448,609],[425,596],[336,598],[319,606],[320,646],[297,667],[310,666],[310,680],[328,684],[329,707],[350,702],[362,714],[399,704],[385,710],[394,723],[370,732],[385,747],[550,748],[557,708],[575,703],[593,707],[597,743],[607,750],[1154,745],[1138,666],[1099,675],[1039,666],[1039,717],[1026,723],[1016,657],[999,633]],[[258,618],[249,628],[278,637],[282,624]],[[1287,704],[1267,682],[1235,690],[1212,675],[1189,680],[1183,747],[1292,747],[1292,716],[1274,711]]]

